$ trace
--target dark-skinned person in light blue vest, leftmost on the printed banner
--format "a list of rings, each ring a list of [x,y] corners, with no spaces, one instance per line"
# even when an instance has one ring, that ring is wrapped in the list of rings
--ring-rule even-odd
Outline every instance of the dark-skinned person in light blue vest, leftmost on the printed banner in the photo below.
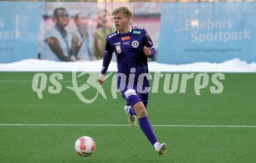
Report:
[[[55,61],[76,61],[77,53],[83,45],[76,41],[75,35],[66,30],[69,14],[65,8],[56,8],[53,14],[55,26],[45,32],[41,59]]]

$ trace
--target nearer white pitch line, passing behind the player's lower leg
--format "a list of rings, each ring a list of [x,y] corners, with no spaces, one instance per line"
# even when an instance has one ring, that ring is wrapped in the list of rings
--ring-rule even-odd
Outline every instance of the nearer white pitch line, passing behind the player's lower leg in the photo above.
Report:
[[[102,124],[0,124],[0,126],[130,126],[130,125],[102,125]],[[138,125],[137,125],[138,126]],[[256,128],[256,126],[232,126],[232,125],[152,125],[158,127],[215,127],[215,128]]]

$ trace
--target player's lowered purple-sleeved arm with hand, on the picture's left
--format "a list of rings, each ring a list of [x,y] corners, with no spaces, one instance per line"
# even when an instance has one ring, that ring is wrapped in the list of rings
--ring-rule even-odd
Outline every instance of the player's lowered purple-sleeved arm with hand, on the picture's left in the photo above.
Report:
[[[106,74],[106,71],[108,71],[108,66],[111,62],[112,55],[113,55],[113,48],[111,47],[108,37],[106,38],[106,47],[105,47],[105,53],[103,57],[103,64],[101,69],[101,74],[99,74],[98,77],[98,83],[102,84],[104,82],[104,75]]]

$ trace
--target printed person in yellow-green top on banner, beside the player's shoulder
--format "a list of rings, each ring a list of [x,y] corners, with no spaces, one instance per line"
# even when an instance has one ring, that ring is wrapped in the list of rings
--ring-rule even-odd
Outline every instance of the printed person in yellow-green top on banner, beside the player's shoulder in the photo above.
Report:
[[[107,10],[99,10],[97,31],[94,33],[95,57],[102,59],[104,56],[106,37],[115,32],[116,28],[112,26],[112,16]]]

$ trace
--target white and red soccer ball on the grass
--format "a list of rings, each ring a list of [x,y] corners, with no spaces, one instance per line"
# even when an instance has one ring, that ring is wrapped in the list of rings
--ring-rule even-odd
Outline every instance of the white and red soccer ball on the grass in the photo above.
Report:
[[[77,139],[76,143],[74,144],[76,153],[84,157],[88,157],[93,154],[95,147],[96,146],[94,140],[89,136],[79,137],[79,139]]]

